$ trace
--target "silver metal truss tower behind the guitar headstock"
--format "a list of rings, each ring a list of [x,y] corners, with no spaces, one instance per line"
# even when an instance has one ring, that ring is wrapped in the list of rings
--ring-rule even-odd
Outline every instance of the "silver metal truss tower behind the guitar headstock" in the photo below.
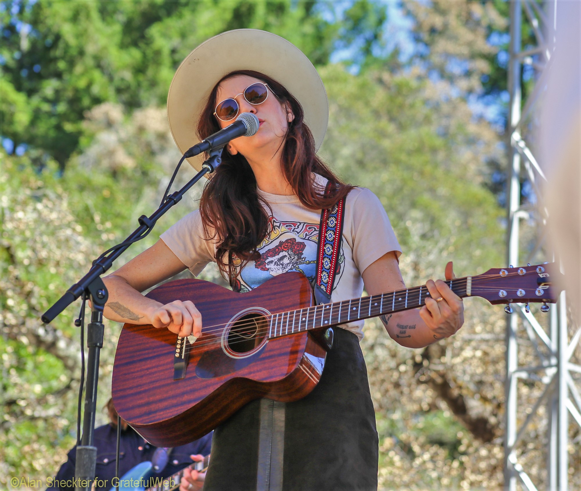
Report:
[[[507,262],[515,266],[552,258],[552,251],[544,245],[548,216],[542,190],[546,177],[535,157],[533,131],[538,120],[536,103],[546,90],[553,47],[559,49],[558,8],[554,1],[510,3]],[[536,46],[523,47],[525,23]],[[525,100],[523,88],[528,92]],[[534,196],[528,200],[533,204],[521,203],[521,186],[528,187],[525,194]],[[570,425],[581,426],[581,396],[573,376],[581,373],[581,367],[571,362],[581,329],[575,333],[571,326],[568,329],[564,292],[548,314],[537,309],[528,312],[522,304],[513,308],[506,329],[505,489],[567,490],[568,451],[573,444]]]

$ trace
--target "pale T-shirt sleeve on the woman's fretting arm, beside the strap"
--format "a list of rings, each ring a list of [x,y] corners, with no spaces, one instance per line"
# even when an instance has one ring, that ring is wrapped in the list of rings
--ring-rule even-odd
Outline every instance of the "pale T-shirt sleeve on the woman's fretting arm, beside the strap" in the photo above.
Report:
[[[354,191],[357,194],[352,204],[351,220],[344,226],[351,227],[353,261],[363,274],[369,265],[388,252],[396,251],[399,260],[401,247],[379,198],[367,188],[357,188]],[[347,200],[351,194],[354,194],[353,191]]]

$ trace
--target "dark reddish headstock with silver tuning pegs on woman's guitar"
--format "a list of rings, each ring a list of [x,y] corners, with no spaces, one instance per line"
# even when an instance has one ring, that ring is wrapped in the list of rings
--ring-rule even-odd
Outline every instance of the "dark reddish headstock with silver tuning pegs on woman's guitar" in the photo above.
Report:
[[[486,298],[491,304],[555,303],[559,292],[554,277],[560,275],[555,263],[493,268],[472,277],[472,296]]]

